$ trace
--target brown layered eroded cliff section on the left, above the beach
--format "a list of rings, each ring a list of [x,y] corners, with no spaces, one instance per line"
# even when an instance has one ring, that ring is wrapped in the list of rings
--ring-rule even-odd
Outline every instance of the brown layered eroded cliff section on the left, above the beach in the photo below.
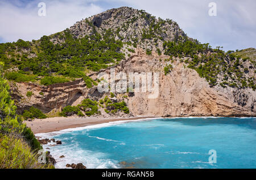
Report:
[[[44,113],[52,109],[72,105],[85,95],[85,83],[82,79],[69,83],[43,86],[32,83],[15,83],[11,85],[11,96],[18,102],[18,113],[31,106],[42,110]],[[32,92],[31,97],[26,93]],[[42,93],[40,95],[40,93]]]

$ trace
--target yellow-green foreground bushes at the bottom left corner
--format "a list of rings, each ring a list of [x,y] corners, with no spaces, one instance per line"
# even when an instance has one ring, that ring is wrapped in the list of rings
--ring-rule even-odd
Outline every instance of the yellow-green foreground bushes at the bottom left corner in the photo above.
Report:
[[[2,67],[0,62],[0,168],[51,168],[37,161],[36,152],[42,146],[16,114]]]

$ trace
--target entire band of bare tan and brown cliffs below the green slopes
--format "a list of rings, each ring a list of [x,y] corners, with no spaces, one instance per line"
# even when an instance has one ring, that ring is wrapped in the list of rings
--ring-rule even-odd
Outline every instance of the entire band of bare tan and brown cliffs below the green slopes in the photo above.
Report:
[[[200,78],[195,70],[184,67],[184,63],[176,59],[173,69],[165,75],[163,68],[170,62],[159,61],[168,58],[166,55],[146,55],[141,49],[114,66],[118,72],[159,72],[159,96],[150,99],[150,93],[126,93],[127,98],[119,96],[127,102],[131,115],[154,117],[179,116],[256,116],[256,92],[252,89],[211,88],[209,83]],[[113,67],[112,67],[113,68]],[[110,74],[110,68],[102,70]],[[97,78],[99,72],[91,74]],[[100,100],[109,93],[100,93],[97,87],[88,89],[82,79],[70,83],[49,85],[48,87],[31,83],[16,83],[12,85],[13,97],[19,101],[19,110],[30,106],[50,112],[52,109],[63,108],[67,105],[80,104],[84,98]],[[26,92],[32,91],[33,96],[26,97]],[[39,95],[43,92],[44,95]],[[118,94],[116,94],[118,97]],[[106,114],[103,112],[103,116]],[[118,116],[118,115],[113,115]]]

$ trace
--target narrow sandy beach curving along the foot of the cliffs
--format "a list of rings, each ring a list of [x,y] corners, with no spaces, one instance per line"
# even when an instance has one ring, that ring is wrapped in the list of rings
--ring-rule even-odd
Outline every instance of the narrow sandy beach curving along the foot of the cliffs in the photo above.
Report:
[[[46,133],[53,131],[60,131],[67,128],[85,127],[91,125],[98,125],[101,123],[108,123],[114,121],[127,121],[127,120],[138,120],[145,118],[155,118],[155,117],[131,117],[131,118],[79,118],[79,117],[55,117],[46,119],[34,119],[33,121],[24,121],[28,127],[34,132]]]

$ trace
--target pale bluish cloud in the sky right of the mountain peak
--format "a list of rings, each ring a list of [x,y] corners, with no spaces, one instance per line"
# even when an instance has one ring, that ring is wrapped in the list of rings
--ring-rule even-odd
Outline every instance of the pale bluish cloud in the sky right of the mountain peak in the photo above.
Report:
[[[254,0],[121,0],[152,15],[175,20],[189,37],[225,50],[255,47]],[[112,0],[112,2],[117,2]],[[118,1],[119,2],[119,1]],[[217,3],[217,16],[209,16],[209,3]]]

